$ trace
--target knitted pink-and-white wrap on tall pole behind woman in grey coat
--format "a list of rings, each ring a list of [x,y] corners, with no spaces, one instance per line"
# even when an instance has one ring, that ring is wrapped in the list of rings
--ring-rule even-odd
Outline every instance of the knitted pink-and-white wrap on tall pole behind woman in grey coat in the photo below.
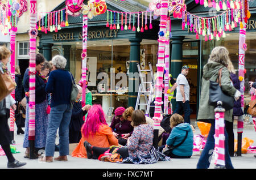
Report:
[[[245,24],[245,23],[244,23]],[[246,25],[241,29],[240,28],[240,35],[239,35],[239,59],[238,59],[238,77],[240,79],[240,92],[241,92],[241,105],[242,110],[244,106],[244,95],[245,95],[245,50],[246,50]],[[243,132],[243,118],[238,117],[237,121],[237,133]]]

